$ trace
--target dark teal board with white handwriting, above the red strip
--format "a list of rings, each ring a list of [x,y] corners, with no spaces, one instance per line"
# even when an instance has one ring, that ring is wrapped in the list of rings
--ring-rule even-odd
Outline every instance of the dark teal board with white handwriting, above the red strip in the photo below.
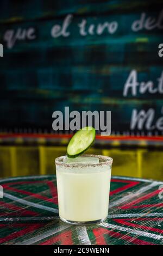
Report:
[[[50,132],[69,106],[111,111],[114,134],[162,135],[163,1],[8,0],[0,14],[0,132]]]

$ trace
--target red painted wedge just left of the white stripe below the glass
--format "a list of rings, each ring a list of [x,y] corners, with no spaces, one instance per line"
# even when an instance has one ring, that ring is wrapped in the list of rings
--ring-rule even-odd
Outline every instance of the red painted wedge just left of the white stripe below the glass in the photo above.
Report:
[[[57,236],[51,237],[48,240],[41,242],[39,245],[54,245],[57,242],[60,242],[60,245],[73,245],[72,231],[64,231]]]

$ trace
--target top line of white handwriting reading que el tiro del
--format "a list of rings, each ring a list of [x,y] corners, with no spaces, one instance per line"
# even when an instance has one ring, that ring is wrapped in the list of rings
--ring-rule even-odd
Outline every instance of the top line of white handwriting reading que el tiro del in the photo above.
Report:
[[[48,35],[50,34],[52,38],[59,38],[60,36],[62,36],[62,38],[67,38],[74,31],[71,31],[72,22],[74,22],[80,36],[103,35],[104,33],[113,35],[121,25],[116,20],[108,21],[106,19],[103,22],[101,22],[101,20],[97,22],[97,19],[98,16],[96,16],[95,23],[93,23],[93,21],[90,23],[89,18],[81,19],[77,22],[72,14],[68,14],[65,19],[61,21],[61,24],[55,23],[52,26]],[[142,29],[146,29],[147,31],[151,31],[152,29],[163,29],[162,19],[163,9],[158,14],[158,17],[148,16],[146,13],[141,13],[140,18],[134,20],[129,26],[133,32],[139,32]],[[3,39],[7,42],[7,48],[12,48],[16,41],[34,40],[36,38],[35,33],[36,31],[34,27],[8,29],[5,31]]]

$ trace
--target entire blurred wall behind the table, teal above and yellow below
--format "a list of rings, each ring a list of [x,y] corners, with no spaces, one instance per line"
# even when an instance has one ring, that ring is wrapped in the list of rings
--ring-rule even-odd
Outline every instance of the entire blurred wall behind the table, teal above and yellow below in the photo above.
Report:
[[[72,132],[52,113],[111,111],[88,153],[113,175],[163,180],[163,1],[0,3],[0,176],[54,174]]]

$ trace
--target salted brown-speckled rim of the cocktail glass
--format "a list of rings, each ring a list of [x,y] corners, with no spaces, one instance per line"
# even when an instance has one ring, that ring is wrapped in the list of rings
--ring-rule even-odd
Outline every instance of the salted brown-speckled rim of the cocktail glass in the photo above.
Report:
[[[62,160],[64,160],[67,156],[59,156],[55,159],[55,164],[60,165],[60,166],[65,166],[65,167],[86,167],[86,166],[91,166],[91,167],[95,167],[95,166],[103,166],[103,165],[109,165],[111,166],[112,164],[112,158],[110,156],[103,156],[103,155],[93,155],[93,154],[84,154],[84,155],[80,155],[80,157],[98,157],[99,160],[102,160],[99,163],[66,163],[63,162]]]

